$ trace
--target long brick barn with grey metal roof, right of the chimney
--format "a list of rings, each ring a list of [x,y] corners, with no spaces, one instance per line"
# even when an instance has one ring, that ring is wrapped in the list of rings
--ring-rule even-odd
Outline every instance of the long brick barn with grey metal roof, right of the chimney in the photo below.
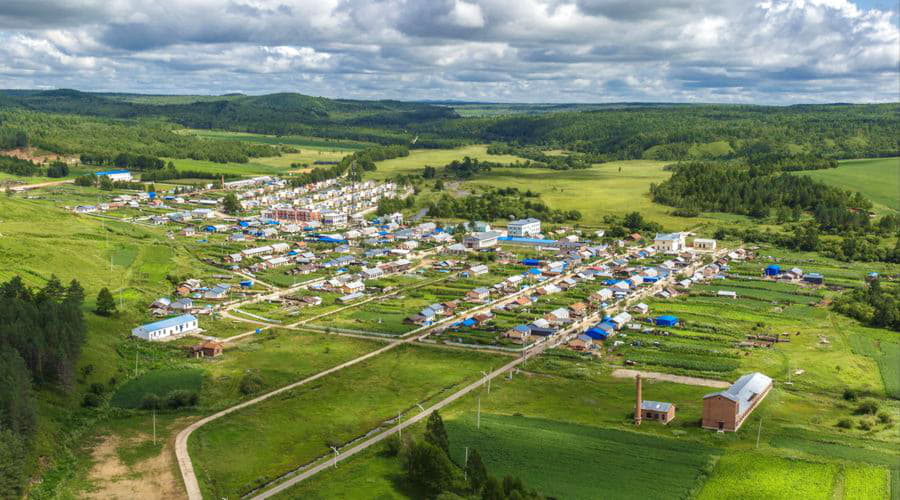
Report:
[[[772,389],[772,379],[749,373],[724,391],[703,396],[704,429],[735,432]]]

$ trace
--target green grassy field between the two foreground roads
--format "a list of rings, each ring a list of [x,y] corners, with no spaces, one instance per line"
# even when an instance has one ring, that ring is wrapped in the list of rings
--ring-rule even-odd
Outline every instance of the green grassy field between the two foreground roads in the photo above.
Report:
[[[395,418],[502,359],[402,346],[210,423],[189,442],[204,493],[237,497]]]

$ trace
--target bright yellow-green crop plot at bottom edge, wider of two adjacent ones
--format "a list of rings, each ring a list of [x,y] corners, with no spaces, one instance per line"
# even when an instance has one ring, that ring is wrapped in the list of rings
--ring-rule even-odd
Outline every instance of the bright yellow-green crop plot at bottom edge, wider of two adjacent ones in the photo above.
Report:
[[[729,452],[716,464],[697,498],[830,500],[839,469],[837,464],[790,460],[749,451]]]

